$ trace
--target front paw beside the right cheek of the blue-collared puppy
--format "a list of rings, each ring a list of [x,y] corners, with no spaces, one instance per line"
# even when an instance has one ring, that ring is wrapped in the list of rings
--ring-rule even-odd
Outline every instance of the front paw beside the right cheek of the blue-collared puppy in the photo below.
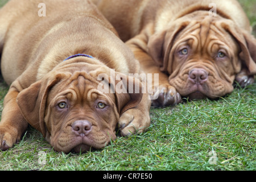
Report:
[[[129,109],[121,115],[118,121],[120,133],[123,137],[146,131],[150,125],[150,117],[139,109]]]

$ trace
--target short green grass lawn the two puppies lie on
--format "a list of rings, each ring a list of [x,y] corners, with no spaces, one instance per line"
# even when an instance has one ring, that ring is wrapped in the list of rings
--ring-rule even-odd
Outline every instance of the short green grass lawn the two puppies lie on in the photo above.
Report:
[[[256,1],[240,2],[255,32]],[[0,111],[7,90],[1,80]],[[118,137],[102,150],[85,154],[55,152],[29,128],[18,144],[0,152],[0,170],[255,171],[255,106],[253,84],[218,100],[184,100],[174,107],[152,108],[146,133]]]

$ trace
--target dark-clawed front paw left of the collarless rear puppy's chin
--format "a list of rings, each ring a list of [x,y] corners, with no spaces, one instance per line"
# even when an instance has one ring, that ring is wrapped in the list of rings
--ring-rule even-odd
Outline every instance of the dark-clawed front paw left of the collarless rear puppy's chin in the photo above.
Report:
[[[155,86],[154,95],[151,97],[152,106],[170,106],[181,102],[181,96],[176,89],[167,84]]]

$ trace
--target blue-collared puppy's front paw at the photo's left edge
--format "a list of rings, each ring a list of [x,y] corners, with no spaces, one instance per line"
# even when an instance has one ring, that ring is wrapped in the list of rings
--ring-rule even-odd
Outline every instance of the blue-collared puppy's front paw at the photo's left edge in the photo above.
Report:
[[[18,142],[15,129],[9,127],[0,127],[0,150],[5,151]]]

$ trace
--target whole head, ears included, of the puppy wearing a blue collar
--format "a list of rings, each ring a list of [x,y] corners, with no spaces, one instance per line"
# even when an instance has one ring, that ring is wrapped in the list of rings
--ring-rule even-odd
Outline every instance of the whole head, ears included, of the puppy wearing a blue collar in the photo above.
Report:
[[[142,93],[98,90],[96,73],[102,71],[110,69],[95,68],[91,73],[52,71],[19,93],[17,102],[24,118],[56,151],[85,152],[105,147],[116,138],[119,115],[141,101]],[[123,81],[133,80],[122,77],[127,78]]]

